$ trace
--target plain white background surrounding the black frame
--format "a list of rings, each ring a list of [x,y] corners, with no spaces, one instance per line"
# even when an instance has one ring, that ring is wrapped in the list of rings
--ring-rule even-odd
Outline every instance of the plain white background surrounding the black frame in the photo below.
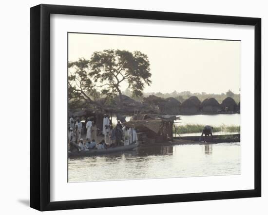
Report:
[[[268,5],[264,0],[25,0],[2,1],[0,12],[0,213],[38,214],[29,208],[29,8],[39,3],[112,7],[262,18],[263,110],[267,108]],[[266,95],[266,98],[265,96]],[[268,115],[263,115],[263,133]],[[172,204],[80,209],[46,214],[260,214],[268,213],[268,138],[263,135],[263,197]],[[9,153],[12,150],[12,153]]]

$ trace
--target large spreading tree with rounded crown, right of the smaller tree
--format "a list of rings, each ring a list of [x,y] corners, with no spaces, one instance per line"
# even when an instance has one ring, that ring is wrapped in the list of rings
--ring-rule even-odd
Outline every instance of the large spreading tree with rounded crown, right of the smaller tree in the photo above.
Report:
[[[133,96],[142,96],[145,84],[150,85],[152,74],[146,54],[140,51],[103,50],[93,53],[89,61],[94,83],[101,87],[107,96],[119,94],[122,102],[120,84],[127,82]]]

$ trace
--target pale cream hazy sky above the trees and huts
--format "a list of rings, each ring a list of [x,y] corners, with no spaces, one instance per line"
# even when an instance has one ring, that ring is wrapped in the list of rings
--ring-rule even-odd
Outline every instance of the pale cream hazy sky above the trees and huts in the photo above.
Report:
[[[144,92],[239,93],[240,41],[69,33],[69,61],[106,49],[148,55],[152,84]]]

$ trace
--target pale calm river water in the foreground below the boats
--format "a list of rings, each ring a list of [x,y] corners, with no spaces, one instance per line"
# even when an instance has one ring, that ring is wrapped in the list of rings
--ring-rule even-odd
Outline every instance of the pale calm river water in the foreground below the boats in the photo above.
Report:
[[[69,159],[69,182],[241,174],[240,143],[141,145],[134,151]]]

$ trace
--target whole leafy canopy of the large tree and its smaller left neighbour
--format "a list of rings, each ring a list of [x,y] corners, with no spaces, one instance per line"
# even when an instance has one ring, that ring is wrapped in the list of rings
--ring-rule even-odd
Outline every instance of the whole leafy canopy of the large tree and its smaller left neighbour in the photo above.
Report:
[[[68,98],[74,102],[85,100],[98,105],[96,100],[101,96],[109,99],[117,94],[122,102],[123,82],[136,97],[143,95],[145,84],[152,83],[148,56],[140,51],[96,51],[89,60],[69,62],[68,68]]]

